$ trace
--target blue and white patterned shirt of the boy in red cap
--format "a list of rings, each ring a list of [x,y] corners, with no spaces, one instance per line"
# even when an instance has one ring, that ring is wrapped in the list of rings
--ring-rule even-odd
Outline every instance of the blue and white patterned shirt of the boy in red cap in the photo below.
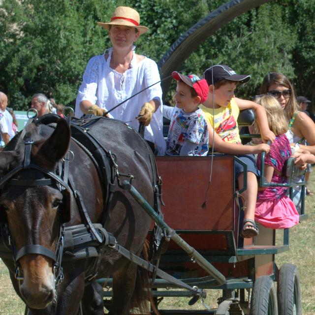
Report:
[[[178,107],[172,110],[170,125],[166,141],[166,155],[179,156],[185,141],[195,144],[193,156],[206,156],[208,153],[208,128],[202,115],[202,110],[197,109],[192,113],[185,113]]]

